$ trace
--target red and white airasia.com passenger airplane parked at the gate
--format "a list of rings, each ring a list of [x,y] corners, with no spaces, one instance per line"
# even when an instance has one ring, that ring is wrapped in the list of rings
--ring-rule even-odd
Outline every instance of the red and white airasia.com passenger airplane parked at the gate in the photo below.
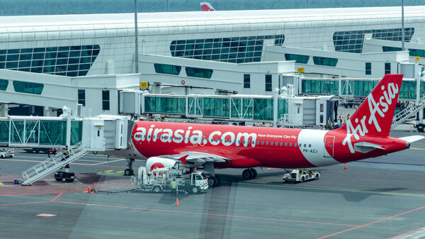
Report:
[[[387,155],[425,138],[389,137],[402,77],[386,74],[344,126],[334,130],[137,121],[130,149],[115,155],[147,160],[150,170],[203,167],[212,187],[220,185],[215,168],[245,168],[242,177],[253,179],[254,167],[323,167]]]

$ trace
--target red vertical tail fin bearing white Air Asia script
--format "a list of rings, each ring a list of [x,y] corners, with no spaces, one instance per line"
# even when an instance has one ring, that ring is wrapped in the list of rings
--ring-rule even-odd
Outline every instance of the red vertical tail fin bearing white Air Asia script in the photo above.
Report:
[[[358,135],[390,135],[402,79],[402,74],[385,74],[353,116],[336,130],[342,130],[356,138]]]

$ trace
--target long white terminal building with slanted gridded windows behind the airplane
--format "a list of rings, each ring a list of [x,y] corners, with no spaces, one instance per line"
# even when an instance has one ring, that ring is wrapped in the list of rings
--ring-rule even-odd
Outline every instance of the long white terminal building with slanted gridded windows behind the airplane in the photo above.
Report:
[[[138,62],[132,13],[0,20],[2,116],[22,105],[52,116],[77,104],[118,114],[120,91],[140,82],[152,94],[267,98],[291,84],[297,95],[365,96],[413,62],[403,94],[425,94],[425,6],[404,8],[404,51],[399,7],[139,13]]]

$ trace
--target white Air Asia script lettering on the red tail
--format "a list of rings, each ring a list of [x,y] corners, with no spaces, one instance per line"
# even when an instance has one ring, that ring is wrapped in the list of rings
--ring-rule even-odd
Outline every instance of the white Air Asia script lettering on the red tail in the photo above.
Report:
[[[354,152],[354,148],[353,144],[351,143],[351,137],[353,136],[356,140],[359,140],[361,136],[364,136],[366,133],[368,133],[368,126],[374,127],[376,131],[381,132],[382,129],[376,114],[378,113],[378,117],[384,118],[389,106],[391,104],[395,104],[394,99],[399,92],[398,85],[389,83],[387,84],[386,90],[385,86],[382,86],[381,90],[383,91],[383,95],[380,96],[378,101],[375,101],[372,94],[368,95],[367,101],[370,113],[369,118],[367,118],[367,116],[361,116],[360,120],[358,118],[350,118],[346,122],[347,133],[346,138],[344,138],[344,141],[342,141],[342,145],[348,145],[348,148],[352,153]],[[353,126],[352,120],[354,123],[356,123],[356,126]]]

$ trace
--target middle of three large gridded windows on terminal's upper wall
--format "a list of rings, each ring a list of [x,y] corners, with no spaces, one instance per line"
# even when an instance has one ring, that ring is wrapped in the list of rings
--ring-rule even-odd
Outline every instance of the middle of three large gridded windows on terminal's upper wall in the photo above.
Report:
[[[261,62],[264,40],[268,39],[274,39],[275,45],[282,45],[285,35],[173,40],[170,51],[173,57],[233,63]]]

